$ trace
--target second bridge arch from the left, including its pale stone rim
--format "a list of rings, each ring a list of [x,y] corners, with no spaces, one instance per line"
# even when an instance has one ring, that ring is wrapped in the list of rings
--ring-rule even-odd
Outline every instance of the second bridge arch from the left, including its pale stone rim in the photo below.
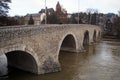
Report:
[[[69,44],[64,44],[68,39],[70,39],[70,41],[68,41],[67,43],[70,43],[71,44],[71,41],[72,44],[69,45]],[[78,44],[77,44],[77,39],[75,37],[75,35],[73,33],[66,33],[65,35],[63,34],[62,37],[60,37],[60,40],[58,41],[58,48],[57,48],[57,54],[56,56],[54,57],[58,67],[60,68],[60,62],[59,62],[59,53],[60,53],[60,50],[62,49],[61,47],[68,47],[67,49],[63,49],[64,51],[69,51],[69,52],[77,52],[77,49],[78,49]],[[73,48],[71,50],[71,48]],[[59,69],[61,70],[61,69]]]

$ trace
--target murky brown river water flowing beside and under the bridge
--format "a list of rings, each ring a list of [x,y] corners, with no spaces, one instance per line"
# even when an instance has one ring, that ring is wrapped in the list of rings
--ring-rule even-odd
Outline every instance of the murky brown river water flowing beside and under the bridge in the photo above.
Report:
[[[15,70],[0,80],[120,80],[120,41],[102,40],[86,52],[60,52],[62,71],[44,75]]]

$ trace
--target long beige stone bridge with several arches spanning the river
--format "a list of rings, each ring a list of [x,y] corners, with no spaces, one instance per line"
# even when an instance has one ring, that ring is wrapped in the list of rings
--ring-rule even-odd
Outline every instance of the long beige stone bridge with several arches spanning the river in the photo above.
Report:
[[[12,26],[0,28],[0,55],[8,65],[36,74],[61,70],[60,50],[80,52],[99,41],[101,28],[86,24]],[[74,58],[74,57],[73,57]]]

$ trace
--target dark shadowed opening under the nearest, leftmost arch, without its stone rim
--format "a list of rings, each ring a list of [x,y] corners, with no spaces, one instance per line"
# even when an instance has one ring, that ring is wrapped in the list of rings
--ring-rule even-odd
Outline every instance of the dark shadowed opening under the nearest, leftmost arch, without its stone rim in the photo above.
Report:
[[[32,73],[37,72],[37,63],[32,55],[25,51],[6,53],[8,65]]]

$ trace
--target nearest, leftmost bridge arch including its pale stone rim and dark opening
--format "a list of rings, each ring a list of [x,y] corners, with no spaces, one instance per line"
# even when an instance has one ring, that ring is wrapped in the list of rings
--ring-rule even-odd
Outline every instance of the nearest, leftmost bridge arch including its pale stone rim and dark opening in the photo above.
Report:
[[[29,48],[21,49],[19,46],[17,48],[14,47],[12,49],[8,49],[4,52],[7,57],[9,66],[31,73],[39,74],[38,57],[35,53],[30,52]]]

